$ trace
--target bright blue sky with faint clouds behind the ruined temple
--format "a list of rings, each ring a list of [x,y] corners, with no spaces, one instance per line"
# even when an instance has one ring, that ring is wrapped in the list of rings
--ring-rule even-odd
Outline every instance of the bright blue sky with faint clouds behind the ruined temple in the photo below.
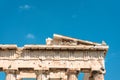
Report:
[[[45,44],[53,33],[106,41],[105,80],[119,79],[119,0],[0,0],[0,44]]]

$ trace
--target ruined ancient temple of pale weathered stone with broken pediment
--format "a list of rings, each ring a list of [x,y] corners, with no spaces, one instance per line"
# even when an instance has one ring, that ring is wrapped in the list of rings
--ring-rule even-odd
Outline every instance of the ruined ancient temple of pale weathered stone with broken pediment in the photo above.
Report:
[[[104,80],[108,46],[54,34],[46,45],[0,45],[0,70],[6,80]]]

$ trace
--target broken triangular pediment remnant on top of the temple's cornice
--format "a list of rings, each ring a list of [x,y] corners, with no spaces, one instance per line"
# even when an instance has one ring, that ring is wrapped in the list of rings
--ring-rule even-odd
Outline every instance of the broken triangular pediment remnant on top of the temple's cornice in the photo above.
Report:
[[[95,43],[91,41],[86,40],[80,40],[76,38],[71,38],[63,35],[54,34],[53,39],[47,38],[46,39],[47,45],[70,45],[70,46],[77,46],[77,45],[106,45],[105,42]]]

